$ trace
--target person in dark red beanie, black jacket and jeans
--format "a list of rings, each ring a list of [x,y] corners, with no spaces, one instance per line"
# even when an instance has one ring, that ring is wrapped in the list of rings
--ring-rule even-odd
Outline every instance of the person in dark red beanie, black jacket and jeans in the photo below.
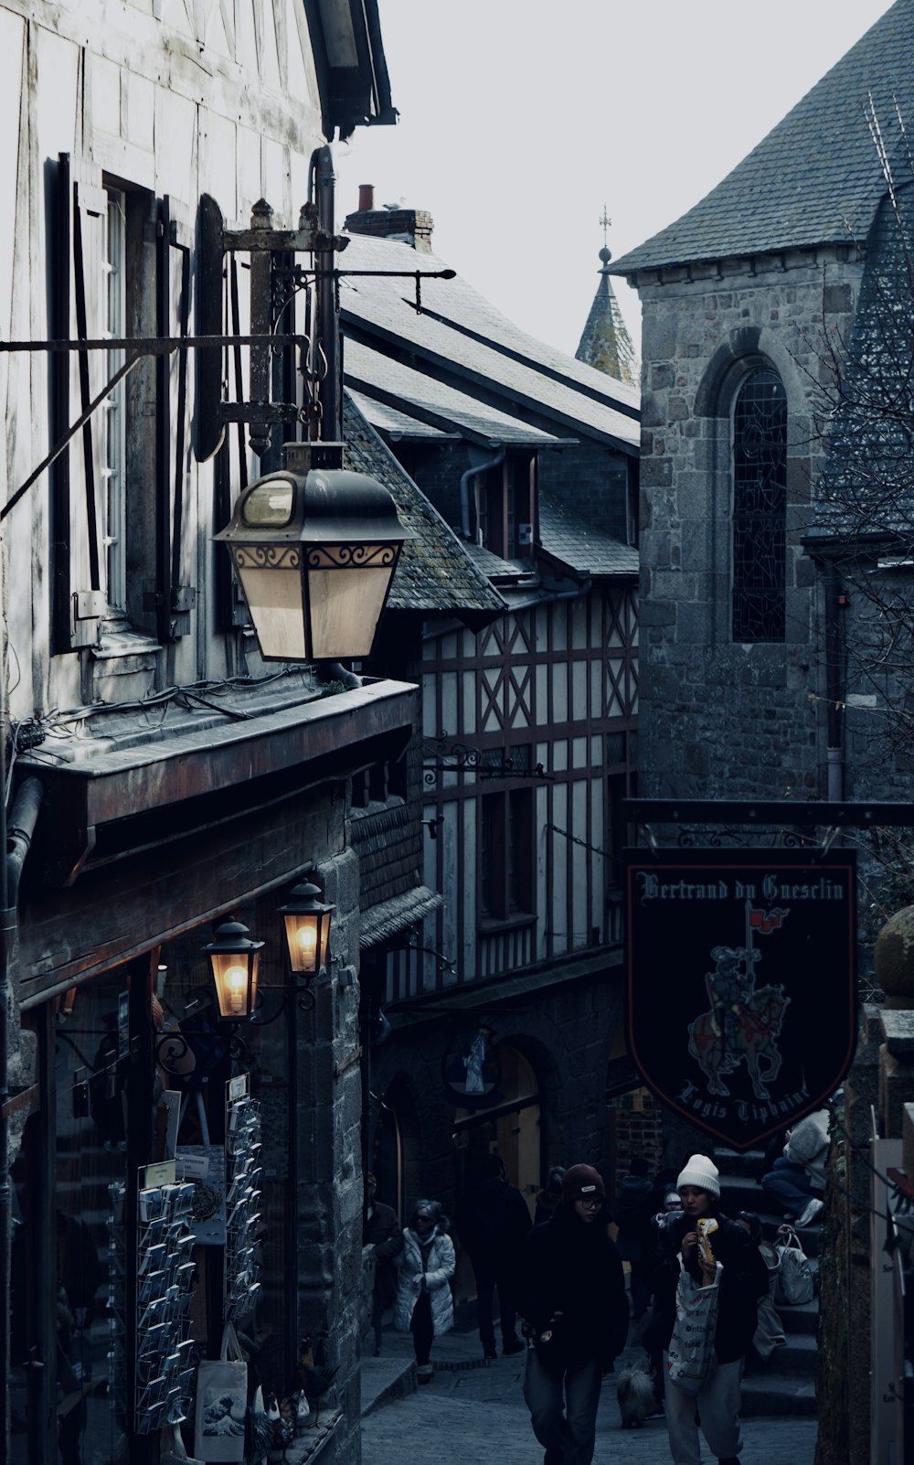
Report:
[[[590,1465],[601,1379],[625,1346],[628,1299],[605,1198],[599,1172],[571,1165],[552,1220],[527,1234],[520,1254],[523,1392],[543,1465]]]

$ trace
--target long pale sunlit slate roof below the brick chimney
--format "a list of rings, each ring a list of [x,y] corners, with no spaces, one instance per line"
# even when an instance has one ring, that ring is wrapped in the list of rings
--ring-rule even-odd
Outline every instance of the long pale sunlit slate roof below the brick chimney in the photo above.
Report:
[[[552,419],[557,437],[590,441],[637,456],[639,393],[535,340],[466,280],[422,281],[422,314],[409,278],[347,277],[353,270],[438,271],[445,261],[390,239],[352,234],[341,256],[340,308],[346,357],[352,343],[376,340],[410,365],[460,390],[504,400],[508,415],[530,410]],[[344,357],[344,359],[346,359]]]

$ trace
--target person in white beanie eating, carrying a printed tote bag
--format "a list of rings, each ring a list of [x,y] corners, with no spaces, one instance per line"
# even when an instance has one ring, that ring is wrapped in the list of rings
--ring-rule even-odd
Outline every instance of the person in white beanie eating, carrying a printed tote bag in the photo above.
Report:
[[[706,1154],[693,1154],[677,1179],[681,1212],[655,1219],[658,1264],[655,1317],[664,1345],[665,1414],[674,1465],[700,1465],[702,1433],[718,1465],[740,1465],[740,1381],[743,1361],[757,1326],[759,1299],[768,1292],[768,1269],[748,1232],[721,1210],[718,1168]],[[677,1320],[677,1288],[684,1270],[705,1286],[699,1235],[700,1220],[713,1220],[709,1239],[721,1263],[718,1316],[713,1324],[710,1371],[697,1393],[678,1387],[668,1373],[669,1339]]]

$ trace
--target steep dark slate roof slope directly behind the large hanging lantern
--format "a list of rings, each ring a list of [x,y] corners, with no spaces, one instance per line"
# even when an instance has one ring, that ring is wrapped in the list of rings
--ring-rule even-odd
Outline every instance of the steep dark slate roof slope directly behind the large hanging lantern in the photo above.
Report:
[[[476,568],[454,532],[400,467],[349,394],[343,400],[343,440],[346,467],[384,483],[393,494],[403,524],[415,536],[403,545],[388,608],[476,612],[486,618],[504,611],[501,595]]]

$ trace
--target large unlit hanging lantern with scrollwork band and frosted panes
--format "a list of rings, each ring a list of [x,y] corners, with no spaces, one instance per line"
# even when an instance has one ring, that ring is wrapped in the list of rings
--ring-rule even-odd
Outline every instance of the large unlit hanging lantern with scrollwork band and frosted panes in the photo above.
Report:
[[[287,442],[286,467],[245,489],[215,535],[265,661],[371,655],[410,535],[390,492],[341,463],[341,442]]]

